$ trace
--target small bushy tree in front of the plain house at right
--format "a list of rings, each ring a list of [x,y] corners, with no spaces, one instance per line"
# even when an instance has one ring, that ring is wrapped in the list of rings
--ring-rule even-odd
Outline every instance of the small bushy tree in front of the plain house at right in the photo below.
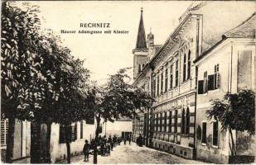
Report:
[[[231,136],[230,150],[236,154],[232,130],[247,131],[255,134],[255,93],[242,89],[238,93],[226,93],[224,100],[212,101],[210,110],[206,111],[208,119],[220,121],[221,131],[229,130]]]

